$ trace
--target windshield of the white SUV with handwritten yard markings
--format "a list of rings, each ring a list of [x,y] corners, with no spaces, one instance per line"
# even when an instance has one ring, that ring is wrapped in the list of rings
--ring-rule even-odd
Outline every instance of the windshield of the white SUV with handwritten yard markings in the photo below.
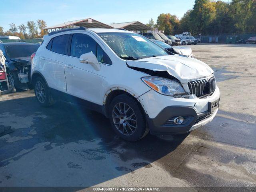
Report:
[[[168,53],[145,38],[134,33],[98,33],[110,48],[122,59],[134,60]]]

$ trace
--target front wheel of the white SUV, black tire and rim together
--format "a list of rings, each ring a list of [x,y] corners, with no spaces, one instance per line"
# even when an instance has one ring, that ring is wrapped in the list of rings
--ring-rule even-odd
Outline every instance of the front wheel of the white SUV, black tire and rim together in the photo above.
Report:
[[[144,111],[132,96],[116,96],[110,103],[108,112],[111,126],[120,138],[136,141],[148,134]]]

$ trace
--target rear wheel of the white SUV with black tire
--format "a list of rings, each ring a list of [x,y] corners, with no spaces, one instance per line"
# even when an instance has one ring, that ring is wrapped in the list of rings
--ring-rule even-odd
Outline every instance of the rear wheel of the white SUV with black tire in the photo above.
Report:
[[[49,87],[45,83],[45,81],[38,77],[34,81],[34,92],[36,95],[36,100],[43,107],[52,106],[55,103],[55,98],[50,92]]]

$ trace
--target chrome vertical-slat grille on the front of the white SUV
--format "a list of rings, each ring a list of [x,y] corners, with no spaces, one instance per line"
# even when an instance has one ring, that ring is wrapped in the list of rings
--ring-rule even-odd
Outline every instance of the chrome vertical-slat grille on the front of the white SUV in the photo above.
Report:
[[[215,77],[200,79],[188,82],[188,88],[191,94],[195,94],[198,98],[211,95],[216,89]]]

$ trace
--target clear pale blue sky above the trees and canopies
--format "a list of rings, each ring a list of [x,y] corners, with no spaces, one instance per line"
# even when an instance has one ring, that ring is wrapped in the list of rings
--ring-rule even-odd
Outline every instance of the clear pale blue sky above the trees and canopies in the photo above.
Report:
[[[223,0],[230,2],[230,0]],[[0,0],[0,26],[4,31],[9,24],[16,26],[42,19],[47,26],[67,21],[93,18],[105,24],[113,22],[156,22],[161,13],[179,18],[192,9],[194,0]]]

